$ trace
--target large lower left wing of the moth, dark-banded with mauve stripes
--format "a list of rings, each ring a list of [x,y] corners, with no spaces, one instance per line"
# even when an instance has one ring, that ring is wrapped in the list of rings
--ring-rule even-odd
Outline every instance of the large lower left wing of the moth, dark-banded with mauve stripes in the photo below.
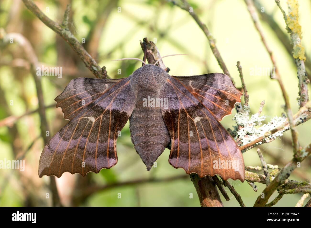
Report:
[[[102,83],[107,84],[107,81],[102,80]],[[117,163],[118,131],[128,121],[135,105],[129,82],[130,78],[121,79],[101,92],[97,99],[77,111],[77,115],[50,139],[40,157],[39,177],[60,177],[63,172],[77,172],[85,176],[87,172],[98,173],[100,169],[111,168]],[[88,93],[91,90],[89,87],[85,89]],[[78,91],[75,87],[70,90]],[[83,94],[83,90],[79,93]],[[67,92],[67,96],[71,94]],[[76,100],[81,99],[81,96],[75,97]]]

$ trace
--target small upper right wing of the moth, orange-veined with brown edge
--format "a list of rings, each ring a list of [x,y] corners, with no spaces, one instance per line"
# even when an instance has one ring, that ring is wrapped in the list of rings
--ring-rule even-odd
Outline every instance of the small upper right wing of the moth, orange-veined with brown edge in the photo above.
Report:
[[[224,116],[230,115],[234,104],[241,101],[242,93],[225,74],[173,77],[179,80],[219,121]]]

